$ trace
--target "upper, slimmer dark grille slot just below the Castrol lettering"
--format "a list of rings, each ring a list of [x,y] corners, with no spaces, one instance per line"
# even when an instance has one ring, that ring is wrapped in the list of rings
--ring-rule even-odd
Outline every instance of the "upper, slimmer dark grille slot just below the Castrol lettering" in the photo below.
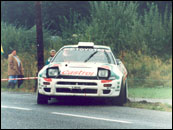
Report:
[[[94,82],[57,82],[58,85],[80,85],[80,86],[97,86]]]

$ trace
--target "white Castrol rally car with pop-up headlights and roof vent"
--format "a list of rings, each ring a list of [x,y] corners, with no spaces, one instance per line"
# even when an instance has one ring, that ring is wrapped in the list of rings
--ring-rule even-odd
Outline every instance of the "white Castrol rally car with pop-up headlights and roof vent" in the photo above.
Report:
[[[37,103],[64,96],[104,97],[123,105],[127,70],[110,47],[92,42],[64,46],[38,73]]]

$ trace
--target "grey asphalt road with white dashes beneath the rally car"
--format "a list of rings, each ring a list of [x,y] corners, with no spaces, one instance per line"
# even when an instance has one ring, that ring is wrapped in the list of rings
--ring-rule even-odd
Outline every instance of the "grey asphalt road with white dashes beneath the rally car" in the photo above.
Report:
[[[37,105],[35,94],[1,92],[1,129],[157,128],[172,128],[172,112],[110,106],[92,99]]]

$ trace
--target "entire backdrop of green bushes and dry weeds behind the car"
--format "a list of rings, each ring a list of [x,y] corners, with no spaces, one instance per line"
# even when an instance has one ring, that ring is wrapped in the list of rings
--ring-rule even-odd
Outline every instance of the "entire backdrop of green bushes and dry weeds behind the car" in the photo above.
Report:
[[[172,87],[172,2],[42,2],[42,19],[45,60],[50,49],[92,41],[110,46],[124,62],[130,86]],[[1,77],[11,48],[23,60],[25,76],[36,75],[34,2],[1,2],[1,44]]]

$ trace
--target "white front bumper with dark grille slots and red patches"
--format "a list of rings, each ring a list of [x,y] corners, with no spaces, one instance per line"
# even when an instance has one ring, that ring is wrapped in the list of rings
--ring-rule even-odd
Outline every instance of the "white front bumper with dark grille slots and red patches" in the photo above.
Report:
[[[104,84],[106,84],[104,87]],[[51,79],[38,78],[38,92],[47,96],[117,97],[120,80]]]

